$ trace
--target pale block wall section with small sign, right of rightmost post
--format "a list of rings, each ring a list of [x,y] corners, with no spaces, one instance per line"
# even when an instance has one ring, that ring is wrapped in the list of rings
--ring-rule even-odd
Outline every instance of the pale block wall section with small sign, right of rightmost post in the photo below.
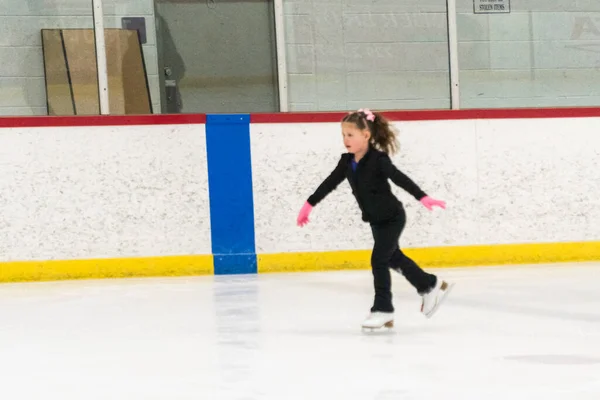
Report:
[[[600,2],[513,0],[499,15],[457,6],[462,107],[600,104]]]

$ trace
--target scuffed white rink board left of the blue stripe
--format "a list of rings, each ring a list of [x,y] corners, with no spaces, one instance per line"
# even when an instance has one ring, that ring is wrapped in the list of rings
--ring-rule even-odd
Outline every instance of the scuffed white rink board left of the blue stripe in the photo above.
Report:
[[[1,261],[210,254],[204,125],[0,131]]]

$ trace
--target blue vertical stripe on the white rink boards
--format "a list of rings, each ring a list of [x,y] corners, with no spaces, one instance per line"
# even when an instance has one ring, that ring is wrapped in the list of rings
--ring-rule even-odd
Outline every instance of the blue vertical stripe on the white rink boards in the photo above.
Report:
[[[207,115],[206,150],[215,275],[256,273],[250,115]]]

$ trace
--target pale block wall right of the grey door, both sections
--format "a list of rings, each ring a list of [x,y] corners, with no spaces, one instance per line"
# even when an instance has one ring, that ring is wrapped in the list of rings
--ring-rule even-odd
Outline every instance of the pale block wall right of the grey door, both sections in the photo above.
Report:
[[[600,2],[458,0],[463,108],[600,104]],[[284,0],[290,108],[449,108],[446,0]]]

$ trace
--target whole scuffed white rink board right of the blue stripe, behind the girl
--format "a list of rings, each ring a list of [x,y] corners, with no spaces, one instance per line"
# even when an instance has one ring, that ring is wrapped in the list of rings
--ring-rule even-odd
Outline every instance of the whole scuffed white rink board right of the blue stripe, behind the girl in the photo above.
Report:
[[[600,119],[401,122],[394,162],[428,194],[405,204],[401,245],[511,244],[600,239]],[[369,226],[343,182],[300,229],[306,198],[335,167],[338,123],[252,124],[257,253],[369,249]]]

